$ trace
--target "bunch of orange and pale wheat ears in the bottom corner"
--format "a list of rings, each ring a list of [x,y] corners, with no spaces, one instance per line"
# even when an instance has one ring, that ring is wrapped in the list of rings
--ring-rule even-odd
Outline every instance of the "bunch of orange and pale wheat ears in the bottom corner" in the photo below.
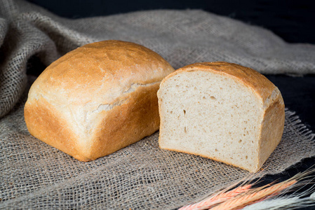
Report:
[[[251,209],[255,209],[257,207],[258,209],[264,209],[264,206],[266,206],[266,204],[268,204],[269,207],[274,206],[273,209],[276,209],[276,207],[284,207],[284,205],[286,205],[286,209],[294,209],[295,207],[302,207],[305,204],[315,205],[315,193],[313,193],[311,197],[300,199],[304,195],[314,192],[315,185],[312,186],[309,190],[304,191],[303,193],[297,193],[298,191],[295,191],[290,196],[283,196],[283,194],[287,192],[285,191],[286,189],[293,189],[291,188],[292,186],[295,186],[295,188],[299,186],[300,189],[302,189],[307,184],[313,183],[314,176],[311,176],[311,174],[314,172],[315,169],[307,169],[305,172],[298,173],[292,178],[281,183],[269,183],[259,188],[253,188],[253,186],[255,186],[255,183],[250,183],[250,180],[253,180],[253,177],[255,176],[255,174],[252,174],[252,176],[248,176],[242,181],[234,183],[232,186],[229,186],[224,190],[220,190],[217,193],[212,193],[208,195],[208,197],[204,200],[201,200],[201,202],[189,204],[185,207],[180,208],[179,210],[236,210],[253,205],[254,206]],[[299,183],[296,184],[297,182]],[[278,196],[278,198],[275,199],[274,197],[276,195]],[[281,197],[279,197],[279,195],[281,195]],[[272,199],[269,200],[269,198]],[[292,205],[293,201],[295,200],[298,201],[298,203],[296,205]],[[262,205],[255,205],[260,203]]]

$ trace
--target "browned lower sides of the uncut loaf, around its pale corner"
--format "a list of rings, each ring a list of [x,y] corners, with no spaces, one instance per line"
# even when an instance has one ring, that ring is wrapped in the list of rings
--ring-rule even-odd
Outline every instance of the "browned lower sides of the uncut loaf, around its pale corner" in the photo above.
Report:
[[[37,139],[77,160],[95,160],[133,144],[159,129],[156,98],[158,89],[159,83],[140,87],[130,94],[128,102],[104,111],[100,125],[95,127],[95,134],[84,144],[78,141],[80,137],[74,134],[72,125],[62,119],[62,113],[45,99],[26,104],[25,121],[29,132]]]

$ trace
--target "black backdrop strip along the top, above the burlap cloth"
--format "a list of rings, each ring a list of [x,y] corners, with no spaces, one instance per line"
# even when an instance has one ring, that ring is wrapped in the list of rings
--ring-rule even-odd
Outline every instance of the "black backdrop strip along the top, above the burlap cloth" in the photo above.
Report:
[[[306,0],[28,0],[65,18],[136,10],[197,8],[274,31],[291,43],[315,43],[315,1]]]

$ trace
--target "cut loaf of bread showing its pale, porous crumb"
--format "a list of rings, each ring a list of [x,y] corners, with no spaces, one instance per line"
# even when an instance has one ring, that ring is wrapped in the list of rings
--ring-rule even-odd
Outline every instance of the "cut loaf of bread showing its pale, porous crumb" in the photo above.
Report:
[[[253,69],[227,62],[185,66],[158,92],[159,146],[257,172],[279,144],[279,89]]]

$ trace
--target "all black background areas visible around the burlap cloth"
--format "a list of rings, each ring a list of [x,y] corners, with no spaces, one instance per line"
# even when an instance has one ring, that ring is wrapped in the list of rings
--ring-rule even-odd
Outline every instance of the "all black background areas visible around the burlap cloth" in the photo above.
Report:
[[[289,43],[315,44],[315,1],[232,1],[232,0],[160,0],[160,1],[101,1],[101,0],[28,0],[56,15],[65,18],[86,18],[100,15],[128,13],[136,10],[153,9],[202,9],[217,15],[224,15],[241,20],[250,25],[269,29]],[[315,57],[314,57],[315,59]],[[38,62],[34,59],[33,62]],[[36,66],[33,64],[32,66]],[[37,73],[45,66],[39,66]],[[29,72],[34,72],[30,69]],[[309,130],[315,131],[315,75],[292,77],[286,75],[265,75],[283,95],[286,107],[296,111],[302,123]],[[291,167],[284,174],[267,176],[266,182],[275,179],[288,179],[298,171],[304,171],[315,165],[315,158],[307,158],[302,163]],[[315,176],[315,174],[314,174]],[[309,187],[309,186],[308,186]],[[308,188],[307,187],[307,188]],[[306,188],[304,188],[306,189]],[[304,209],[313,209],[311,207]]]

